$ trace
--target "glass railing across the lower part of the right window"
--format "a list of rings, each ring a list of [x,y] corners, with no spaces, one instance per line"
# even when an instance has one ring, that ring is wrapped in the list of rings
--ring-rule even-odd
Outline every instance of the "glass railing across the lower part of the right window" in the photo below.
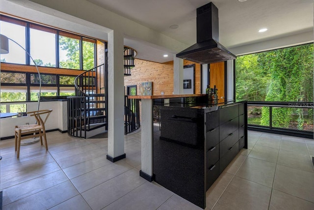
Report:
[[[313,102],[248,102],[248,125],[314,131]]]

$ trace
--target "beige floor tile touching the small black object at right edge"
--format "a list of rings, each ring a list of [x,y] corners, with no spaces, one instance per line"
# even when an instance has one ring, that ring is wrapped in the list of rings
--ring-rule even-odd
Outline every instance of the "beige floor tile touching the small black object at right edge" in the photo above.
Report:
[[[308,151],[301,153],[280,150],[278,164],[314,173],[312,161]]]

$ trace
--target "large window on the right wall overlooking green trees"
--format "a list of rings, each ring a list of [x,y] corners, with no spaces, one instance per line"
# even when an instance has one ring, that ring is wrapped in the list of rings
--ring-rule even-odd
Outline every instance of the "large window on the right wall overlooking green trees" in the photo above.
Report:
[[[313,43],[239,56],[235,76],[249,124],[313,131]]]

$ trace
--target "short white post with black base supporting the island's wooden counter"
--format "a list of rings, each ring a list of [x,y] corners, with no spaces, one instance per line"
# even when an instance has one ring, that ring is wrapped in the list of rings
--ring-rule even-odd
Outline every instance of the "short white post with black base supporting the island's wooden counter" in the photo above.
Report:
[[[140,176],[153,181],[153,99],[142,99]],[[144,116],[144,117],[143,117]]]

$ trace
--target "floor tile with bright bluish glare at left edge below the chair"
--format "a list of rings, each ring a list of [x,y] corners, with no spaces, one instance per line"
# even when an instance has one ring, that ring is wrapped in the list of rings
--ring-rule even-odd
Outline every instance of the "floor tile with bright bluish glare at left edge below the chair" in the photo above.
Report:
[[[55,162],[29,167],[24,171],[1,177],[0,189],[7,188],[27,180],[32,180],[58,170],[60,170],[60,167]]]

